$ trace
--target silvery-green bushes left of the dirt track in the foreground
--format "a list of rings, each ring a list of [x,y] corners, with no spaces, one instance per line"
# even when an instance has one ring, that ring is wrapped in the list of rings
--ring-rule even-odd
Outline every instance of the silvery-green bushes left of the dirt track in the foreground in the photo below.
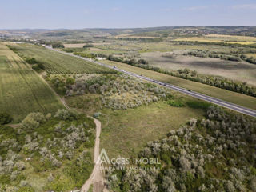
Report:
[[[63,116],[62,112],[67,115]],[[45,171],[54,173],[48,177],[48,183],[44,183],[47,191],[59,191],[60,188],[54,186],[56,183],[58,187],[65,186],[66,180],[69,188],[64,189],[74,190],[89,178],[93,162],[87,148],[94,146],[93,120],[70,110],[58,110],[54,117],[31,113],[22,121],[22,126],[0,127],[1,191],[14,188],[15,191],[34,191],[26,180],[27,166],[31,168],[29,172],[42,173],[42,178]],[[54,171],[58,168],[66,171]]]

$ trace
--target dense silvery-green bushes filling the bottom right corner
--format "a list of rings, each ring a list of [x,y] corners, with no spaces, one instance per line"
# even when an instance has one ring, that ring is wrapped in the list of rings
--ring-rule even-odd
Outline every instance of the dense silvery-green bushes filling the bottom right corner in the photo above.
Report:
[[[205,119],[191,119],[138,154],[160,166],[117,164],[106,184],[110,191],[255,191],[255,127],[252,118],[211,106]]]

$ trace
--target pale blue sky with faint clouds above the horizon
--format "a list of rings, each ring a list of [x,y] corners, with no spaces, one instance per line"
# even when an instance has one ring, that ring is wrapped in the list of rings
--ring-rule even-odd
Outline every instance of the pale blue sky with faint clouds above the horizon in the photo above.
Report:
[[[256,26],[256,0],[0,0],[0,29]]]

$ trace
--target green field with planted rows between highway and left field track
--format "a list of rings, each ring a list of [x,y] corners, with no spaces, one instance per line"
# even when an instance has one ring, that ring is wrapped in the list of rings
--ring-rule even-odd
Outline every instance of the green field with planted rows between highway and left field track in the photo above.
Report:
[[[35,58],[38,62],[41,62],[48,74],[104,74],[114,72],[80,58],[47,50],[42,46],[11,44],[10,47],[15,52],[17,51],[22,58]]]

